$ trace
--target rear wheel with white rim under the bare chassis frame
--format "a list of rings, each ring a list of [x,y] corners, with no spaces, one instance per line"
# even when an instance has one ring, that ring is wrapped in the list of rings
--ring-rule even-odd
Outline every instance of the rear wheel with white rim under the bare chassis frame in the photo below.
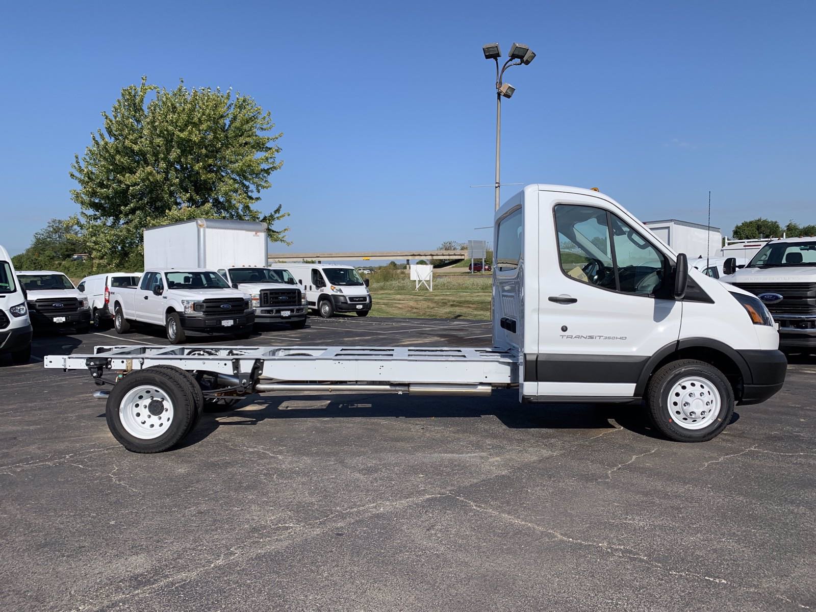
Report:
[[[160,367],[131,372],[113,385],[105,417],[127,450],[161,453],[178,444],[196,418],[193,388]]]

